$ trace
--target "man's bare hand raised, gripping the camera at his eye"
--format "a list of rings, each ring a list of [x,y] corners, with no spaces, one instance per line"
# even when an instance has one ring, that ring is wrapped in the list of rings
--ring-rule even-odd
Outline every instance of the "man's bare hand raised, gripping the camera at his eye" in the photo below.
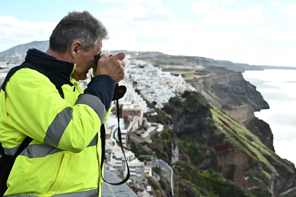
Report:
[[[123,61],[125,53],[117,53],[110,57],[110,53],[102,54],[99,61],[98,66],[94,69],[94,74],[100,75],[108,75],[110,76],[115,84],[120,82],[124,76],[124,66],[126,65],[125,61]]]

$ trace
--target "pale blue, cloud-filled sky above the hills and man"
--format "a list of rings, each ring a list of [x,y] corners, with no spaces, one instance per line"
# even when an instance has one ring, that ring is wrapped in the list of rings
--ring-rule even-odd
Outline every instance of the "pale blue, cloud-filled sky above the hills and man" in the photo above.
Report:
[[[0,0],[0,52],[49,40],[73,10],[89,11],[107,27],[110,39],[103,50],[296,67],[296,1],[291,0]]]

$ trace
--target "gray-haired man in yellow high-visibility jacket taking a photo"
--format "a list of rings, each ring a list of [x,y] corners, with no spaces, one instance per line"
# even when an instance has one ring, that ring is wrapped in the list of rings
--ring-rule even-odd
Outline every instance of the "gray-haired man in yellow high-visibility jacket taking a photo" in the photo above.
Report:
[[[54,76],[64,99],[38,69],[19,69],[7,81],[0,94],[4,151],[13,155],[26,136],[33,141],[16,158],[4,196],[101,196],[98,132],[125,66],[124,53],[101,55],[107,38],[89,12],[70,12],[53,30],[46,53],[28,50],[25,60]],[[95,77],[83,91],[77,81],[91,68]]]

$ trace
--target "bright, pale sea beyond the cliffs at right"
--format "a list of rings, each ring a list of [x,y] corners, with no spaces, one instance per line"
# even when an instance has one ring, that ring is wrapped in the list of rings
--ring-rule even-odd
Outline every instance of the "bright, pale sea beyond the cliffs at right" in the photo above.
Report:
[[[255,116],[269,124],[276,154],[296,164],[296,70],[245,71],[243,76],[269,104]]]

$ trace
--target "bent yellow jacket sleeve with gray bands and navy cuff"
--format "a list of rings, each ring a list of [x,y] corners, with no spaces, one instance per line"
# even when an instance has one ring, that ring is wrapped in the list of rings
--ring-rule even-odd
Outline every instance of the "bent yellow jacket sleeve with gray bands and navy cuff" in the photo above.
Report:
[[[32,69],[20,69],[5,88],[8,123],[37,141],[78,153],[99,131],[114,88],[110,76],[98,75],[71,105],[59,96],[46,76]]]

